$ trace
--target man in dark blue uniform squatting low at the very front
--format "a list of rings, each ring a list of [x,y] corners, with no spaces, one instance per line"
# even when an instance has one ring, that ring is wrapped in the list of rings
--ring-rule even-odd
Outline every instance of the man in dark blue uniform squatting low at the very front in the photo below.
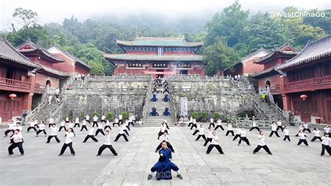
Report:
[[[156,171],[156,180],[171,180],[171,170],[177,172],[177,178],[183,179],[182,175],[179,173],[179,168],[174,163],[171,162],[172,155],[171,150],[167,148],[167,143],[162,142],[162,148],[159,150],[159,161],[152,167],[151,173],[149,173],[147,180],[153,178],[153,173]]]

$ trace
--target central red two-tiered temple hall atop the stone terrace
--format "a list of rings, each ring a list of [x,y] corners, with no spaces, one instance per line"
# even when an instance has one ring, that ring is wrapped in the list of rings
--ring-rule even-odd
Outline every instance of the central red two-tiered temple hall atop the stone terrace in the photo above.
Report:
[[[105,54],[115,65],[114,75],[152,74],[167,77],[176,74],[205,75],[203,57],[196,52],[202,42],[186,42],[179,38],[135,37],[133,41],[116,41],[124,54]]]

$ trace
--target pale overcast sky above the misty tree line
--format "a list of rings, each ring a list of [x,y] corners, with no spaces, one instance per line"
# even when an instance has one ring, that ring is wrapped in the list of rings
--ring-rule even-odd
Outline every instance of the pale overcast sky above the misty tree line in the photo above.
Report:
[[[153,13],[169,17],[206,15],[222,10],[235,0],[0,0],[0,30],[8,29],[14,22],[15,8],[25,8],[38,13],[39,24],[63,22],[65,17],[74,15],[83,21],[104,15],[124,16],[128,14]],[[246,0],[240,1],[244,10],[251,12],[280,11],[286,6],[300,9],[329,9],[330,0]]]

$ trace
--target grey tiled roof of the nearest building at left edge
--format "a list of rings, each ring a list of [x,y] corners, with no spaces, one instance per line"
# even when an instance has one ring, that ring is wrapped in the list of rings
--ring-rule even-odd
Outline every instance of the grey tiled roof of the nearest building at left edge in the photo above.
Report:
[[[0,58],[31,66],[36,69],[40,68],[37,64],[30,62],[27,57],[18,52],[8,41],[2,38],[0,38]]]

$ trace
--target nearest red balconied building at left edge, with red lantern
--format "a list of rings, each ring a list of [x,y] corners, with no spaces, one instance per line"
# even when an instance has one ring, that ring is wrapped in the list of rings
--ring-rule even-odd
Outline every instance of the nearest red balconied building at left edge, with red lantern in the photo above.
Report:
[[[35,91],[35,73],[41,66],[0,39],[0,122],[8,122],[31,110]],[[10,94],[15,94],[13,99]]]

